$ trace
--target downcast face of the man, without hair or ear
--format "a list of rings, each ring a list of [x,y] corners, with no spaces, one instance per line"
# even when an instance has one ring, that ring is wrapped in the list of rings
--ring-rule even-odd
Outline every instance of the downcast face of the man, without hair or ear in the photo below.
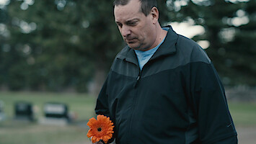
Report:
[[[115,22],[130,48],[135,50],[149,50],[156,41],[156,28],[151,14],[145,16],[141,12],[141,2],[131,0],[125,6],[115,6]],[[154,48],[154,47],[153,47]]]

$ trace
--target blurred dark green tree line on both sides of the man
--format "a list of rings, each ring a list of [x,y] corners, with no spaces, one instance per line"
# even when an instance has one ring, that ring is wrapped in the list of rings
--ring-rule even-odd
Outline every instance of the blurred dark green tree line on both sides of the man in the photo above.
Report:
[[[160,23],[193,21],[225,85],[256,84],[255,0],[158,1]],[[112,1],[0,3],[1,89],[97,93],[125,44]]]

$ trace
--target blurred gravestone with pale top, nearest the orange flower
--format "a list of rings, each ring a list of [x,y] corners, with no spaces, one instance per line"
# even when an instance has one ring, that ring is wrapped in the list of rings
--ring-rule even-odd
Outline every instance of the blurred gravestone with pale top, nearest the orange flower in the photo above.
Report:
[[[45,117],[40,120],[43,124],[67,125],[70,122],[67,104],[48,102],[44,105],[43,111]]]

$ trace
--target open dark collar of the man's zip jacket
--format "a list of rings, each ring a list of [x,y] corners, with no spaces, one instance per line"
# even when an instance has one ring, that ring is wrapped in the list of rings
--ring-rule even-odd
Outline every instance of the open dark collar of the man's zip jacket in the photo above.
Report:
[[[174,30],[172,30],[172,27],[170,25],[166,27],[169,27],[167,36],[165,37],[165,40],[162,43],[162,45],[160,45],[160,47],[158,48],[158,50],[156,50],[156,53],[154,53],[150,60],[162,57],[164,55],[172,55],[176,52],[175,44],[177,42],[178,35]],[[138,65],[136,53],[134,52],[133,49],[129,48],[128,46],[126,46],[125,48],[123,48],[123,50],[120,51],[120,53],[117,55],[117,58]]]

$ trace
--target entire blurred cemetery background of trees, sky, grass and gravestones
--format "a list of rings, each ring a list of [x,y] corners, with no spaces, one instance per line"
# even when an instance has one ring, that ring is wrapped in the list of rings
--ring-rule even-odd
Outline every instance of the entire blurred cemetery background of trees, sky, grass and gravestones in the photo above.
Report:
[[[256,1],[158,1],[226,89],[239,143],[256,138]],[[0,144],[89,143],[87,121],[124,46],[112,1],[0,0]]]

